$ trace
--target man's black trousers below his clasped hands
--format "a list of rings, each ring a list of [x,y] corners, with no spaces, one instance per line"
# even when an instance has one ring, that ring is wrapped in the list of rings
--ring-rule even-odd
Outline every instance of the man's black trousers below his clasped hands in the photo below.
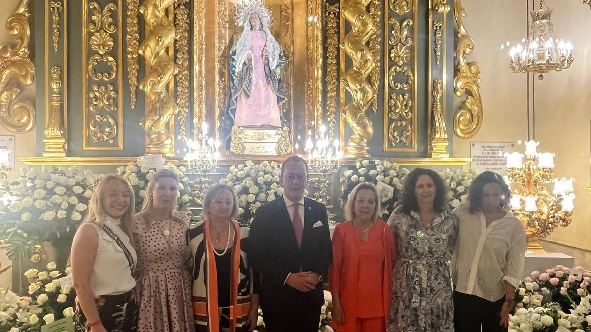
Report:
[[[285,311],[262,310],[267,332],[318,332],[320,307],[310,302],[307,294],[298,294]]]

